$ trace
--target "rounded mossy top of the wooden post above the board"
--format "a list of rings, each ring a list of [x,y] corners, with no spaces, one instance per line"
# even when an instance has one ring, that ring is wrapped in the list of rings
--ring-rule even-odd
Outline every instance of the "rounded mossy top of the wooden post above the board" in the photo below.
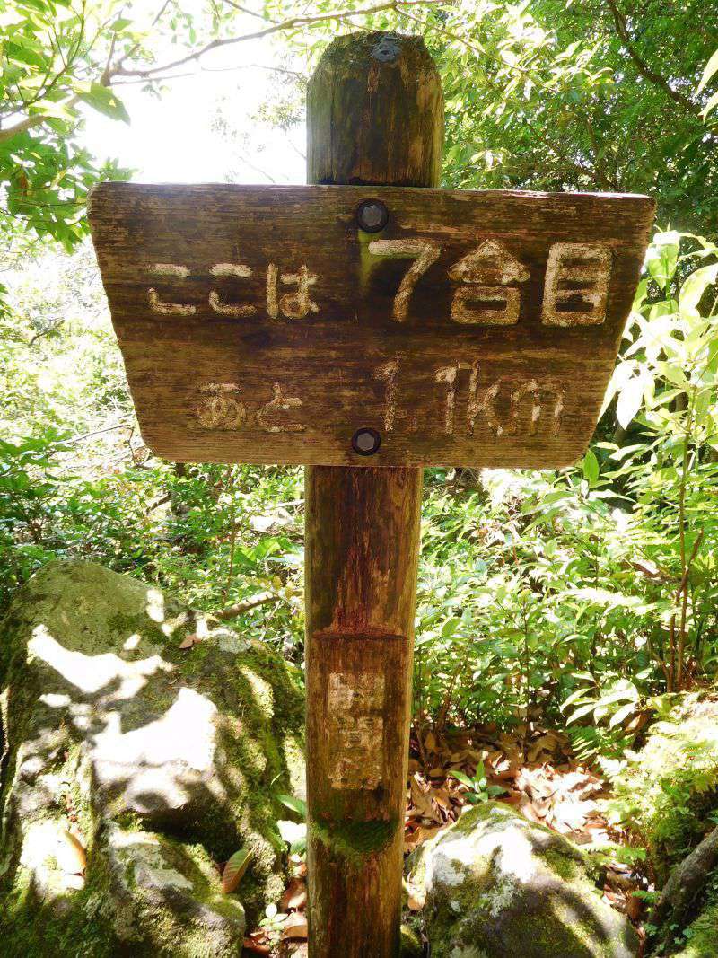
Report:
[[[307,91],[311,183],[438,186],[443,98],[420,36],[337,36]]]

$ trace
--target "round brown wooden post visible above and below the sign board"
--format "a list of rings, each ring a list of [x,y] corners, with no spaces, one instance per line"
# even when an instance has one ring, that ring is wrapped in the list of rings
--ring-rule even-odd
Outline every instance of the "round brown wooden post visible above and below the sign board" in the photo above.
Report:
[[[307,97],[312,183],[438,186],[423,41],[352,34]],[[309,955],[398,954],[419,468],[306,469]]]

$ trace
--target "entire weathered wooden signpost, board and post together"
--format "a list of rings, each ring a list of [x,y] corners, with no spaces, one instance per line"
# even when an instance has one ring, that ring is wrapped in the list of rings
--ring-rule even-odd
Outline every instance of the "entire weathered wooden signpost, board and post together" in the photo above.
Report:
[[[322,185],[107,183],[90,223],[147,445],[308,467],[309,950],[389,958],[420,467],[582,454],[653,202],[431,189],[443,108],[416,37],[334,40],[307,125]]]

